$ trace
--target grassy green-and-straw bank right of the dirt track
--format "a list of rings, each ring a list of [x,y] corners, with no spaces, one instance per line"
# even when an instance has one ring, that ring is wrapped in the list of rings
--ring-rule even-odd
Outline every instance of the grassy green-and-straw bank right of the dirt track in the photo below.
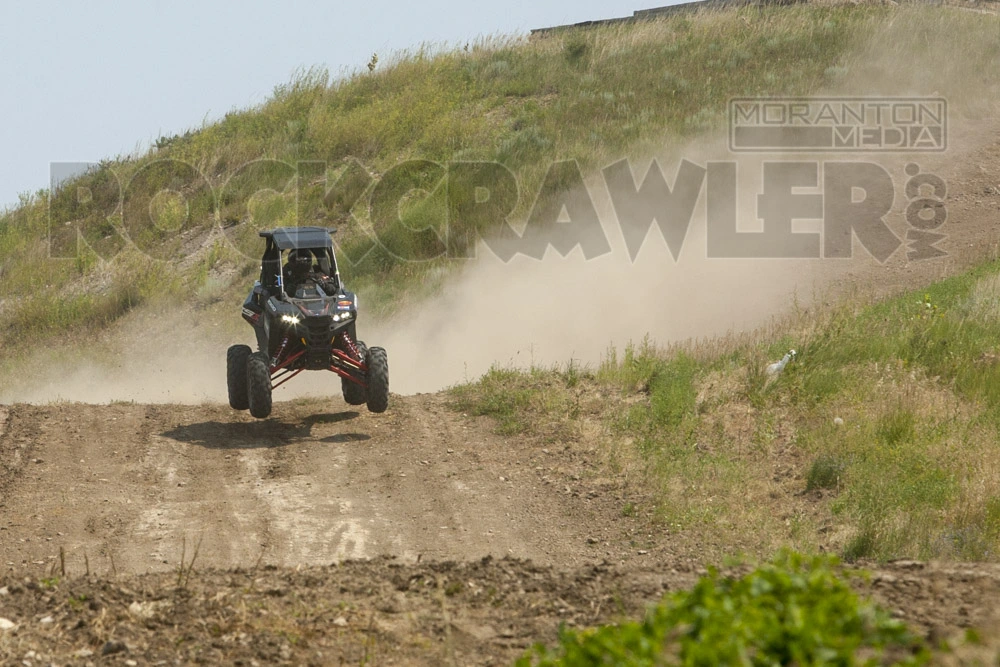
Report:
[[[793,320],[769,340],[610,351],[573,388],[564,373],[535,369],[454,392],[463,410],[496,416],[501,429],[600,425],[607,465],[632,480],[630,493],[651,496],[667,527],[728,545],[720,558],[791,544],[852,562],[996,561],[998,319],[993,262],[921,292]],[[766,362],[792,346],[796,361],[764,377]],[[576,416],[568,405],[580,406]]]

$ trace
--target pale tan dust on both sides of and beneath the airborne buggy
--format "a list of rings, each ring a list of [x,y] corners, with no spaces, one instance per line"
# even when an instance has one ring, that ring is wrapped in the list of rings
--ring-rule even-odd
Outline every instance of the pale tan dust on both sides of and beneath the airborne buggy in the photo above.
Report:
[[[677,163],[661,161],[668,182]],[[634,163],[636,177],[648,166],[649,160]],[[758,187],[741,183],[746,206],[753,206]],[[359,335],[388,350],[392,391],[438,391],[474,380],[494,364],[526,368],[572,360],[593,367],[609,347],[622,349],[647,335],[667,344],[753,329],[796,299],[809,302],[826,289],[829,261],[707,258],[704,190],[678,260],[653,225],[633,262],[603,188],[600,178],[588,183],[611,246],[606,255],[588,260],[579,247],[566,256],[550,248],[541,260],[517,255],[504,262],[482,246],[476,259],[456,260],[466,265],[439,296],[384,322],[364,319],[361,295]],[[741,212],[740,219],[752,218]],[[225,312],[239,317],[238,308]],[[201,317],[133,313],[93,346],[103,352],[41,350],[23,364],[31,373],[0,383],[0,402],[225,402],[226,347],[251,343],[252,335],[238,322],[242,334],[227,336],[228,323]],[[336,376],[303,373],[274,397],[339,393]]]

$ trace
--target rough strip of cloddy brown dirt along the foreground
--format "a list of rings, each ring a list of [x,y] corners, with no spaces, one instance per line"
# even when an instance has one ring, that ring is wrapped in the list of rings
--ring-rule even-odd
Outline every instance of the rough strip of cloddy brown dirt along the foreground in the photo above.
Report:
[[[349,561],[55,582],[0,577],[0,655],[39,663],[504,665],[561,625],[636,616],[697,573],[665,565],[573,571],[517,559]],[[1000,569],[899,563],[871,592],[935,639],[997,622]],[[983,650],[995,651],[996,637]]]

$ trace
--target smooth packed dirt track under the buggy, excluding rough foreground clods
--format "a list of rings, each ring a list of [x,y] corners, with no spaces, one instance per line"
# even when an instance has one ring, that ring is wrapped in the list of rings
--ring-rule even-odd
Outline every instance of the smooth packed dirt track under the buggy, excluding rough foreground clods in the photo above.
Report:
[[[501,439],[444,400],[375,416],[303,399],[263,422],[228,406],[15,406],[0,563],[41,575],[61,548],[77,573],[156,572],[199,543],[198,561],[222,568],[618,555],[586,548],[607,541],[615,503],[564,472],[573,456]]]

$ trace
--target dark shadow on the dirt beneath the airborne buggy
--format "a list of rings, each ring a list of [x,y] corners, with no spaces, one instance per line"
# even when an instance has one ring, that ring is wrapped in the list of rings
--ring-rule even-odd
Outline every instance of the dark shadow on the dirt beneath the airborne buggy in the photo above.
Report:
[[[301,420],[280,418],[255,422],[208,421],[183,424],[160,433],[165,438],[186,442],[206,449],[262,449],[278,448],[313,439],[312,429],[317,424],[337,424],[358,417],[354,411],[310,415]],[[359,442],[371,439],[365,433],[337,433],[318,442]]]

